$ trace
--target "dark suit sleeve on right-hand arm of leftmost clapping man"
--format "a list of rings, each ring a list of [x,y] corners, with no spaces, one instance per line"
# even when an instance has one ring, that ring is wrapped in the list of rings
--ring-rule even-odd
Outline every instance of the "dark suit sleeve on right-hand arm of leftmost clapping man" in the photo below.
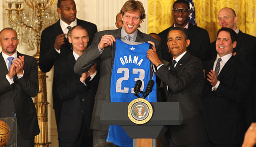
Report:
[[[24,60],[29,66],[24,67],[23,77],[15,81],[30,97],[35,97],[39,91],[37,61],[29,56],[25,56]]]

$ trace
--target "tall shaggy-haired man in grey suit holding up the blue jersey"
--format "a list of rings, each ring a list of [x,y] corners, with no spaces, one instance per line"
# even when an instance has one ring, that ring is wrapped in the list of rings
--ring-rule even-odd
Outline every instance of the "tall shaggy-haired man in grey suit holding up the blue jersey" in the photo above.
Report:
[[[155,42],[159,49],[159,42],[151,36],[140,32],[137,28],[145,18],[143,4],[139,1],[128,0],[121,9],[123,26],[117,30],[97,32],[87,51],[80,56],[74,66],[77,74],[84,73],[99,60],[100,81],[95,96],[91,129],[93,129],[93,144],[105,142],[108,126],[100,121],[101,110],[104,102],[110,102],[110,81],[112,72],[112,43],[115,38],[129,39],[136,42]]]

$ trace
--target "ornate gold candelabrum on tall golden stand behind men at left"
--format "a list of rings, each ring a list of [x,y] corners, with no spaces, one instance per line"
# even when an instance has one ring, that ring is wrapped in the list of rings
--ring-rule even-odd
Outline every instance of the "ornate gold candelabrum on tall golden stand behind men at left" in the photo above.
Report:
[[[58,19],[55,0],[6,0],[9,25],[18,32],[20,43],[27,50],[36,49],[34,57],[39,61],[42,30]],[[12,5],[15,5],[13,8]],[[35,147],[49,147],[46,75],[38,67],[39,92],[34,104],[37,109],[40,134],[35,136]]]

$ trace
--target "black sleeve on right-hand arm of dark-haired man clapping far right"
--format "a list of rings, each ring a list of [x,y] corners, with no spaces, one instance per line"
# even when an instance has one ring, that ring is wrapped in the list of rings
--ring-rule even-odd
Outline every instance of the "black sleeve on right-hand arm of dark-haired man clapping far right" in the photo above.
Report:
[[[240,66],[232,85],[220,81],[216,89],[216,96],[221,96],[235,102],[241,102],[248,97],[251,82],[251,70],[248,66]]]

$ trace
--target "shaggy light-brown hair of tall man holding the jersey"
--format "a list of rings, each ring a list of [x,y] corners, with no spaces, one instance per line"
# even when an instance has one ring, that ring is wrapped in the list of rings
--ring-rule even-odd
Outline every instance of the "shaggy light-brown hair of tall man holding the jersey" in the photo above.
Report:
[[[120,13],[124,16],[125,12],[128,11],[139,11],[140,12],[140,19],[143,20],[146,18],[145,9],[143,3],[136,0],[128,0],[120,10]]]

